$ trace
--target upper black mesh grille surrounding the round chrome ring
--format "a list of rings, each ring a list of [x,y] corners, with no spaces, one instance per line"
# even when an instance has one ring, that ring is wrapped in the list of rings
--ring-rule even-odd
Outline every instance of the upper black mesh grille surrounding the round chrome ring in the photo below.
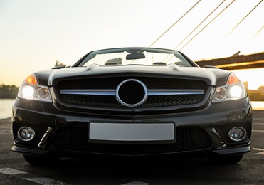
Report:
[[[168,107],[180,105],[195,105],[204,100],[207,84],[202,80],[186,80],[174,78],[149,77],[112,77],[112,78],[85,78],[77,80],[60,80],[56,85],[57,95],[68,107],[82,105],[89,107],[125,108],[117,101],[115,95],[81,95],[60,93],[61,90],[112,90],[115,93],[117,86],[127,79],[140,80],[147,90],[201,90],[202,94],[187,93],[183,95],[152,95],[137,108],[142,107]],[[137,93],[135,93],[137,94]]]

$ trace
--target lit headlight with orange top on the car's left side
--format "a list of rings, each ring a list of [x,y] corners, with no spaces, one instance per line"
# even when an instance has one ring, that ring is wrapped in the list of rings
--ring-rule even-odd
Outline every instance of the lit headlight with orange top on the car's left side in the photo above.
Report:
[[[19,95],[23,99],[51,102],[51,94],[48,87],[38,85],[36,75],[31,74],[23,81],[19,88]]]

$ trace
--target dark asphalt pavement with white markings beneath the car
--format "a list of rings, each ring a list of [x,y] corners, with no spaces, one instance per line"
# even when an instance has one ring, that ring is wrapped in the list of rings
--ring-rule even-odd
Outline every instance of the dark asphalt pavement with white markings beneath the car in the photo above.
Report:
[[[211,164],[206,159],[110,162],[61,159],[32,166],[11,152],[11,119],[0,120],[0,184],[264,184],[264,111],[254,111],[252,152],[238,164]]]

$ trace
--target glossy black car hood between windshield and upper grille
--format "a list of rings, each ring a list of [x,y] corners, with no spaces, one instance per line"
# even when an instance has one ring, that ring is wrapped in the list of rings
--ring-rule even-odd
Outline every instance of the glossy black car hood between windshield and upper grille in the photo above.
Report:
[[[55,86],[58,80],[107,76],[153,76],[204,80],[208,85],[223,85],[231,72],[216,68],[179,67],[177,65],[89,65],[39,71],[40,85]]]

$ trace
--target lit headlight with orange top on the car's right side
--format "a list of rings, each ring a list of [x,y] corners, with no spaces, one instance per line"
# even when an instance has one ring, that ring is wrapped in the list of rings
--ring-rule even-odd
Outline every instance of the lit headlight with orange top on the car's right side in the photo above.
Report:
[[[238,100],[246,97],[244,84],[236,75],[231,73],[226,85],[216,88],[212,102],[223,102],[229,100]]]

